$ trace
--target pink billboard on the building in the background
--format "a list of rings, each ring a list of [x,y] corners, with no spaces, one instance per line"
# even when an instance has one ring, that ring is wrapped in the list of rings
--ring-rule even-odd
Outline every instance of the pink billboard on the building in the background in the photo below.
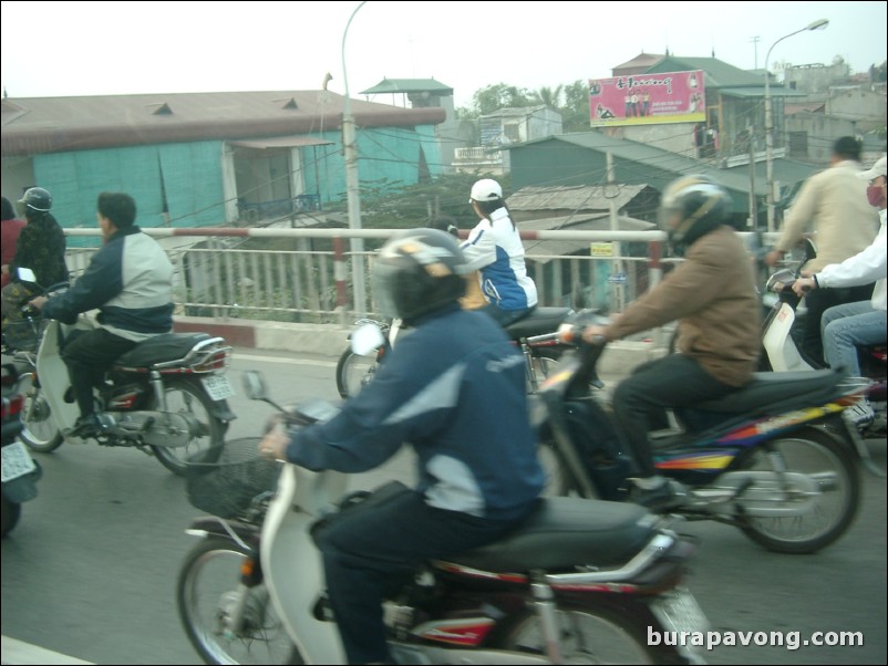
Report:
[[[705,121],[703,72],[590,79],[589,117],[592,127]]]

